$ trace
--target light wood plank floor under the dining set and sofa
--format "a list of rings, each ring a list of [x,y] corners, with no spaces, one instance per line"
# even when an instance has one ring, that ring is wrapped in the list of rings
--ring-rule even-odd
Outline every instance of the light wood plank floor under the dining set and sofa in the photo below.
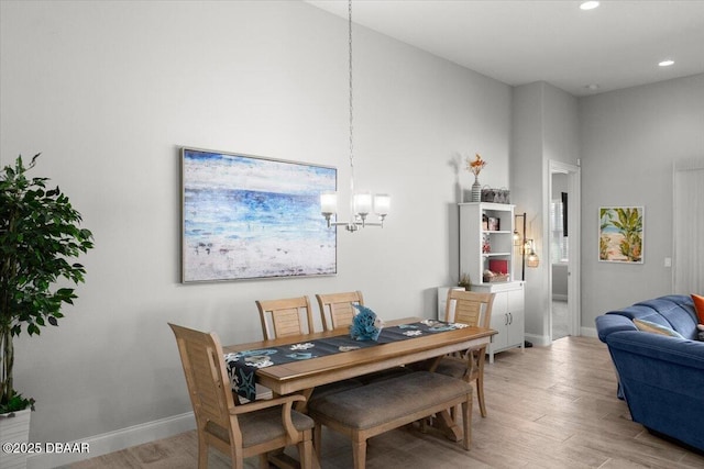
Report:
[[[630,421],[616,399],[606,346],[566,337],[550,347],[507,350],[486,365],[488,415],[474,405],[472,449],[464,451],[432,431],[406,427],[371,438],[367,468],[702,468],[704,456],[650,435]],[[184,392],[186,389],[184,387]],[[295,454],[295,451],[293,453]],[[94,468],[195,468],[195,432],[70,466]],[[256,468],[256,459],[248,461]],[[348,439],[323,433],[323,469],[352,467]],[[210,468],[229,459],[210,453]]]

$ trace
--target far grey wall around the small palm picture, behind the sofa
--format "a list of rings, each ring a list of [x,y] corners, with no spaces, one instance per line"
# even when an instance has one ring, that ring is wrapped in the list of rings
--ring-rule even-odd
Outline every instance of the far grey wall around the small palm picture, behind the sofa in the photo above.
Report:
[[[704,154],[704,75],[580,100],[582,326],[672,291],[672,161]],[[588,183],[586,182],[588,181]],[[600,263],[598,208],[645,206],[644,264]]]

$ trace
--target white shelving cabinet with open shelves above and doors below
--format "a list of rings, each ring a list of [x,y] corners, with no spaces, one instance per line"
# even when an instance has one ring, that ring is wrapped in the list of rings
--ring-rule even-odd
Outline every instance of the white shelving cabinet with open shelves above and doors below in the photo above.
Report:
[[[460,276],[470,276],[472,291],[495,293],[492,328],[497,334],[486,349],[490,364],[493,364],[494,354],[522,348],[525,344],[524,282],[516,281],[514,276],[514,205],[471,202],[459,206]],[[495,223],[487,226],[487,220]],[[484,281],[484,271],[490,266],[505,270],[507,280]]]

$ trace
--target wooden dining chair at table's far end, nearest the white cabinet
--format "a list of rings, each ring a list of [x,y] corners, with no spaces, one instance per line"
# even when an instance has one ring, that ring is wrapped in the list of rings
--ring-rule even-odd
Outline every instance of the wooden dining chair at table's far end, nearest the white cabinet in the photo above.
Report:
[[[492,305],[495,293],[480,293],[475,291],[450,290],[446,304],[446,317],[451,323],[462,323],[470,326],[490,327],[492,322]],[[476,383],[476,399],[480,412],[486,416],[484,402],[484,361],[486,345],[448,355],[440,360],[436,372],[464,379]]]

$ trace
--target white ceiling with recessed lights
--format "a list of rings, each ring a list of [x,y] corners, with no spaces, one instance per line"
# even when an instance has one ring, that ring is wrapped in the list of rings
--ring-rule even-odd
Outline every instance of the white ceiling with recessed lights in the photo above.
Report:
[[[344,0],[307,2],[348,18]],[[704,0],[580,3],[355,0],[352,20],[505,83],[578,97],[704,72]],[[659,67],[666,58],[674,65]]]

